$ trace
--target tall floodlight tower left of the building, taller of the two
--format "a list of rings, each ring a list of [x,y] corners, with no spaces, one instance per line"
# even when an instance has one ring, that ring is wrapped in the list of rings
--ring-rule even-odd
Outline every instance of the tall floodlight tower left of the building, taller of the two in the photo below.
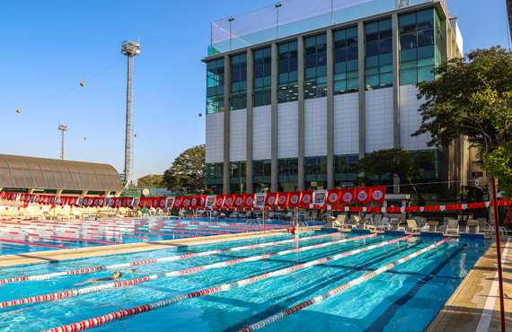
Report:
[[[127,83],[127,132],[125,142],[125,177],[132,174],[133,166],[133,82],[135,72],[134,57],[140,55],[140,44],[133,41],[121,43],[121,54],[128,57],[128,83]]]

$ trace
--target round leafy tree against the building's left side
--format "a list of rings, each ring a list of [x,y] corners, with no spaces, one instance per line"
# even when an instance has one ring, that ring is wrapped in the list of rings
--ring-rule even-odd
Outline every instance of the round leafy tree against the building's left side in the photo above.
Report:
[[[185,193],[203,192],[207,188],[205,162],[205,144],[185,150],[163,173],[163,187],[182,188]]]

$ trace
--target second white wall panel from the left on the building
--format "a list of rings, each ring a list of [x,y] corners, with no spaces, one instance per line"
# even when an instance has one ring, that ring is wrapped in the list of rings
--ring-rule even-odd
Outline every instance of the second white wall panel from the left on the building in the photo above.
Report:
[[[243,162],[247,159],[247,109],[232,110],[229,121],[229,161]]]

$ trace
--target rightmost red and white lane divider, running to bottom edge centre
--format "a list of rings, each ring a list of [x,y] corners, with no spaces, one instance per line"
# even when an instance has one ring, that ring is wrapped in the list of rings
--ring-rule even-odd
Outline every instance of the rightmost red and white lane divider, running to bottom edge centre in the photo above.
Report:
[[[451,238],[446,238],[445,240],[440,240],[440,241],[428,246],[427,248],[416,251],[415,253],[410,254],[409,256],[406,256],[404,258],[400,258],[399,260],[394,261],[393,263],[390,263],[386,266],[382,266],[382,267],[376,269],[375,271],[372,271],[370,273],[367,273],[366,275],[362,275],[362,276],[358,277],[357,279],[350,281],[347,284],[342,284],[339,287],[331,289],[331,291],[329,291],[329,292],[323,293],[322,295],[313,297],[313,299],[311,299],[311,300],[297,304],[295,307],[281,311],[274,316],[270,316],[267,319],[260,320],[259,322],[254,323],[246,328],[239,329],[237,332],[252,332],[257,329],[264,328],[267,325],[275,323],[279,319],[284,319],[285,317],[291,315],[292,313],[297,312],[298,310],[303,310],[313,304],[319,303],[319,302],[327,299],[328,297],[335,295],[336,293],[340,293],[341,291],[344,291],[352,286],[355,286],[356,284],[361,284],[361,283],[365,282],[366,280],[373,278],[375,275],[380,275],[383,272],[393,268],[394,266],[401,264],[401,263],[409,260],[410,258],[415,258],[415,257],[421,255],[422,253],[427,252],[430,249],[436,248],[437,246],[445,243],[447,240],[450,240],[450,239]]]

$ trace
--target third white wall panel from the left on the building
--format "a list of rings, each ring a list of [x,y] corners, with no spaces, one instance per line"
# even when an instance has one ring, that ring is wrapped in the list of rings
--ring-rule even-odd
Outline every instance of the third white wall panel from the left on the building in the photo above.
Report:
[[[252,109],[252,160],[271,158],[270,105]]]

